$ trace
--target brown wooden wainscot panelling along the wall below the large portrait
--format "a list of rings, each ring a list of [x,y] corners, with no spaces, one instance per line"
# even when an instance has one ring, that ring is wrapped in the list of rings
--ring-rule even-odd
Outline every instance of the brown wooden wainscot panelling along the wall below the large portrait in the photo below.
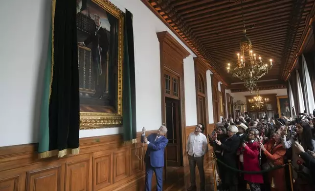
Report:
[[[155,131],[147,132],[147,134]],[[80,153],[37,158],[37,144],[0,147],[0,188],[12,191],[140,191],[146,146],[124,144],[122,134],[80,139]],[[140,185],[141,184],[141,185]],[[130,186],[129,186],[130,185]]]

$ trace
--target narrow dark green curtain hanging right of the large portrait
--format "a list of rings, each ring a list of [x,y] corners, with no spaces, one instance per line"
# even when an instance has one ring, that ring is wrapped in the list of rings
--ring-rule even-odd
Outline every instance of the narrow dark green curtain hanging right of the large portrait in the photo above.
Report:
[[[134,143],[136,140],[136,111],[133,15],[126,9],[124,17],[123,137],[124,141]]]

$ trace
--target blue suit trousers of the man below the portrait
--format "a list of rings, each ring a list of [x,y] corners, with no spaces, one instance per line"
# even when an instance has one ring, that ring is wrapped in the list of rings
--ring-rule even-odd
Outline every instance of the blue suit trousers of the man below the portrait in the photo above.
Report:
[[[153,172],[156,173],[157,191],[163,190],[163,167],[152,167],[150,158],[145,162],[145,191],[151,191]]]

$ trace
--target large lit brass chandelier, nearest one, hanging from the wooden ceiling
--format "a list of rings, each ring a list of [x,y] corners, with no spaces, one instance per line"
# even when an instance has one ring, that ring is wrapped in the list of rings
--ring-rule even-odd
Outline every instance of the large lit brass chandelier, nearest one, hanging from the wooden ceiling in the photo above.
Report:
[[[270,59],[270,65],[268,65],[263,62],[262,57],[256,57],[256,54],[253,53],[251,41],[246,36],[243,5],[242,19],[244,26],[244,36],[240,43],[241,53],[237,53],[237,62],[235,68],[233,68],[230,63],[227,64],[227,73],[231,73],[233,77],[240,78],[242,81],[244,81],[245,87],[247,87],[249,92],[252,93],[252,90],[256,86],[255,81],[268,74],[268,70],[272,68],[272,59]]]

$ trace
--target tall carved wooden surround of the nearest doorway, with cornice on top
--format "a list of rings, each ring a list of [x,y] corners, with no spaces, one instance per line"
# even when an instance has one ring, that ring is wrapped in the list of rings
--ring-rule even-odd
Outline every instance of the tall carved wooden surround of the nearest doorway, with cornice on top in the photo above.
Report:
[[[162,124],[166,124],[166,111],[165,111],[165,71],[171,72],[172,74],[179,77],[180,81],[180,149],[182,154],[180,154],[181,160],[184,162],[184,152],[185,149],[185,95],[184,95],[184,73],[183,73],[183,59],[188,57],[190,53],[183,48],[180,43],[173,38],[167,31],[158,32],[158,41],[160,42],[160,73],[161,73],[161,111],[162,111]],[[173,98],[173,97],[172,97]],[[167,152],[166,148],[166,152]],[[165,159],[167,157],[165,156]],[[166,162],[166,161],[165,161]],[[167,162],[165,164],[166,170]],[[166,171],[165,171],[166,174]]]

